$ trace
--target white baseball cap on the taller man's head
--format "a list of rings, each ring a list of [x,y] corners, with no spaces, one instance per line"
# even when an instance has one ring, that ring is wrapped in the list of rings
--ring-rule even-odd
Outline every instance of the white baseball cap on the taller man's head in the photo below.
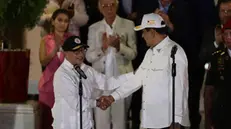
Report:
[[[156,13],[149,13],[143,16],[141,25],[136,26],[134,30],[140,31],[145,28],[164,28],[164,27],[166,27],[166,24],[164,22],[164,19],[160,15]]]

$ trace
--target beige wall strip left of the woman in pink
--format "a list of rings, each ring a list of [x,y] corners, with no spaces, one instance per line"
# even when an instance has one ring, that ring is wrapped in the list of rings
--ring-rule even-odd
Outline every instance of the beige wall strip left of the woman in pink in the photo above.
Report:
[[[41,76],[41,66],[39,63],[39,44],[40,44],[40,28],[35,27],[32,30],[25,31],[24,48],[31,50],[30,55],[30,73],[29,80],[38,81]]]

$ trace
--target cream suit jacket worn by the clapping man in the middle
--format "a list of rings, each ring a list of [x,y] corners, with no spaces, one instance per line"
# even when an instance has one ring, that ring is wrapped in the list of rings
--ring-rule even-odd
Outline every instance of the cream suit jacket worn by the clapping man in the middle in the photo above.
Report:
[[[113,25],[114,33],[121,37],[120,51],[116,53],[116,61],[120,74],[133,71],[132,60],[137,54],[136,34],[134,23],[130,20],[116,16]],[[89,27],[86,59],[98,72],[105,72],[105,55],[102,52],[102,35],[106,32],[105,20],[101,20]]]

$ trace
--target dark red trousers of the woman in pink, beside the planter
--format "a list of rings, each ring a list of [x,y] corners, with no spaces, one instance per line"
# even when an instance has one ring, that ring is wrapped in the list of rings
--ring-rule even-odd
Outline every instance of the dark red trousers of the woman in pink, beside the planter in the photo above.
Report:
[[[39,129],[53,129],[53,117],[51,113],[51,108],[44,104],[43,102],[39,102],[40,108],[40,128]]]

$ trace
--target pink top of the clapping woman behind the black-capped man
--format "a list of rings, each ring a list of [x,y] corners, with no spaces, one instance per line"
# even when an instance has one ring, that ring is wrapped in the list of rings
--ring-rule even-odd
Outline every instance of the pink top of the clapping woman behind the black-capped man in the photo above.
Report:
[[[64,34],[64,39],[71,36],[71,34]],[[55,48],[54,34],[48,34],[44,36],[43,40],[45,41],[46,53],[49,55]],[[53,89],[53,77],[55,71],[59,68],[64,60],[63,52],[57,53],[56,56],[47,64],[44,69],[42,76],[39,80],[38,90],[39,90],[39,101],[43,104],[46,104],[50,108],[54,105],[54,89]]]

